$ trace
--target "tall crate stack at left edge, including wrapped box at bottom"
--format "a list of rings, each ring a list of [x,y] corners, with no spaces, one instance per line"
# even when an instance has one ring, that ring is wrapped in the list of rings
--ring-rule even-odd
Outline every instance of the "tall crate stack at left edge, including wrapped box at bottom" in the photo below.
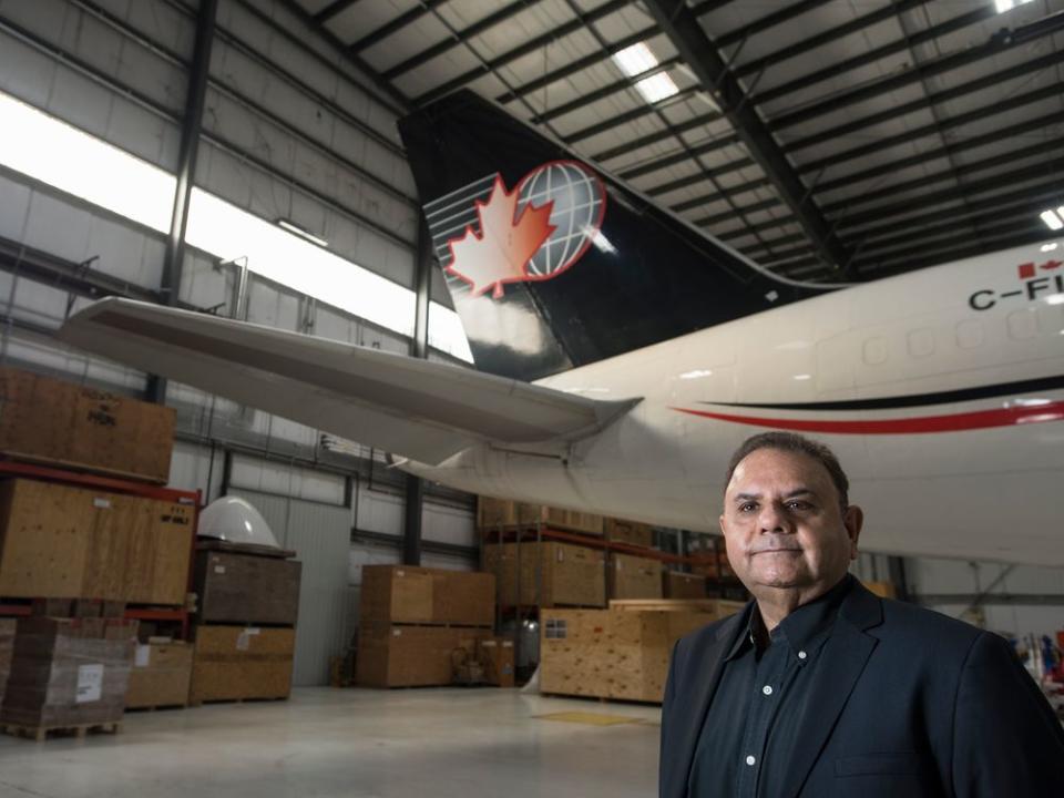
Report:
[[[0,605],[35,613],[10,646],[6,727],[113,726],[136,643],[124,617],[181,628],[197,502],[158,488],[174,420],[170,408],[0,368]],[[10,625],[0,621],[0,676]]]

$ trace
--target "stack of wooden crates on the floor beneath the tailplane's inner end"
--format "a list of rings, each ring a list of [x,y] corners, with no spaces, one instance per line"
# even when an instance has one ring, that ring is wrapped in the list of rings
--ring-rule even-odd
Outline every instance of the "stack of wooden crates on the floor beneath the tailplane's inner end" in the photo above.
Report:
[[[456,654],[495,663],[508,676],[493,637],[495,577],[407,565],[362,567],[357,682],[370,687],[427,687],[453,679]],[[495,651],[481,653],[481,643]],[[491,648],[492,646],[488,646]],[[493,656],[492,656],[493,655]],[[509,663],[512,675],[512,659]]]

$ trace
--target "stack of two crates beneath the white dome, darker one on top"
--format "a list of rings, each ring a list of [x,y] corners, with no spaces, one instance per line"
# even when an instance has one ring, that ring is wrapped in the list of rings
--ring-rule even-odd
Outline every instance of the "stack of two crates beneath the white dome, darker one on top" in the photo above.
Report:
[[[269,546],[196,544],[192,705],[288,697],[301,572],[294,556]]]

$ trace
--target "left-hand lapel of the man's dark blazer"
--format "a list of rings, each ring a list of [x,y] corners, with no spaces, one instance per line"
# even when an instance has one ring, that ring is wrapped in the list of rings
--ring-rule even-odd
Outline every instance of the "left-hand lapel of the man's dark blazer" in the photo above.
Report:
[[[706,722],[709,702],[713,699],[713,694],[716,693],[717,685],[720,683],[720,675],[724,673],[724,657],[735,643],[736,635],[741,634],[749,624],[749,614],[753,606],[751,602],[747,605],[745,612],[736,613],[722,623],[717,628],[713,645],[706,646],[702,651],[692,652],[686,676],[688,683],[693,684],[690,692],[687,694],[689,695],[687,713],[683,718],[683,725],[676,738],[675,757],[673,758],[676,770],[669,779],[672,789],[662,798],[685,798],[687,795],[687,777],[690,774],[690,765],[695,759],[695,749],[698,747],[702,726]]]

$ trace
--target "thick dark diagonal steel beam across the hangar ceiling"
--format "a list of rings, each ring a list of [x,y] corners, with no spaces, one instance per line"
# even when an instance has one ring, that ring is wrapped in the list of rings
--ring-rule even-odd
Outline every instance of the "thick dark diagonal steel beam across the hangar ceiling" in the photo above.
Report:
[[[773,181],[776,191],[808,233],[821,256],[837,267],[849,253],[833,237],[827,222],[809,197],[808,190],[761,122],[746,92],[684,0],[645,0],[647,10],[668,35],[699,83],[717,100],[750,155]]]

